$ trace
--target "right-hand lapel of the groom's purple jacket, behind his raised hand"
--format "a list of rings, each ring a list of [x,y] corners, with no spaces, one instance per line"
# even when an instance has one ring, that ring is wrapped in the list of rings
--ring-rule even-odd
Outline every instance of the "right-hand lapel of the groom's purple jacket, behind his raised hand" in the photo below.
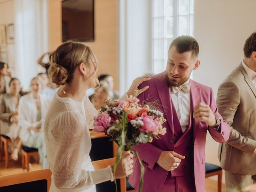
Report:
[[[191,107],[192,107],[192,109],[191,109],[191,112],[192,112],[191,118],[192,118],[194,141],[195,141],[196,134],[197,134],[198,128],[199,128],[199,121],[195,120],[193,118],[194,108],[198,103],[204,102],[204,101],[202,101],[202,99],[201,99],[200,87],[193,80],[190,80],[190,100],[191,100]]]

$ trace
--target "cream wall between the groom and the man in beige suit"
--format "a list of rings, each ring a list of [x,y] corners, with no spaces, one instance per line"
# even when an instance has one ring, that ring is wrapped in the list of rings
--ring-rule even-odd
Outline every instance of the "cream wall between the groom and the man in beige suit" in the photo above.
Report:
[[[194,37],[200,46],[201,65],[194,80],[218,86],[243,58],[243,45],[256,31],[256,0],[195,0]],[[206,162],[219,164],[218,143],[208,134]]]

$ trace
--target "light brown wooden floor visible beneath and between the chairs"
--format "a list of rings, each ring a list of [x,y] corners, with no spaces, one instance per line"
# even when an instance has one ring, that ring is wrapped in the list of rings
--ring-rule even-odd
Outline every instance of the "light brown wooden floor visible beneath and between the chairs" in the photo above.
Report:
[[[41,166],[37,163],[32,163],[32,170],[40,170]],[[12,160],[9,161],[9,168],[5,168],[4,162],[0,162],[0,176],[22,173],[24,170],[21,168],[21,160],[14,162]],[[217,182],[211,180],[210,178],[205,179],[205,192],[218,192],[217,190]],[[222,184],[222,192],[226,192],[225,185]]]

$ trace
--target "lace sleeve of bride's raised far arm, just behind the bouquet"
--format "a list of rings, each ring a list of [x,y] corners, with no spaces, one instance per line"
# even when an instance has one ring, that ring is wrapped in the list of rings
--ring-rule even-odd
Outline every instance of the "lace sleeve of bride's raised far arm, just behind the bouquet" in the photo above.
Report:
[[[88,124],[88,128],[94,129],[94,126],[93,126],[94,117],[98,115],[98,111],[94,108],[94,106],[92,105],[92,103],[90,102],[87,96],[84,101],[84,109],[85,109],[86,122]]]

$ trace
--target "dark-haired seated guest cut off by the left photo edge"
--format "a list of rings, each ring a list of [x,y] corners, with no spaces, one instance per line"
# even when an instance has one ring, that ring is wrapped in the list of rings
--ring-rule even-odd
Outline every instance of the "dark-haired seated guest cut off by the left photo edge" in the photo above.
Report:
[[[8,65],[0,62],[0,94],[9,91],[10,77],[8,76]]]

